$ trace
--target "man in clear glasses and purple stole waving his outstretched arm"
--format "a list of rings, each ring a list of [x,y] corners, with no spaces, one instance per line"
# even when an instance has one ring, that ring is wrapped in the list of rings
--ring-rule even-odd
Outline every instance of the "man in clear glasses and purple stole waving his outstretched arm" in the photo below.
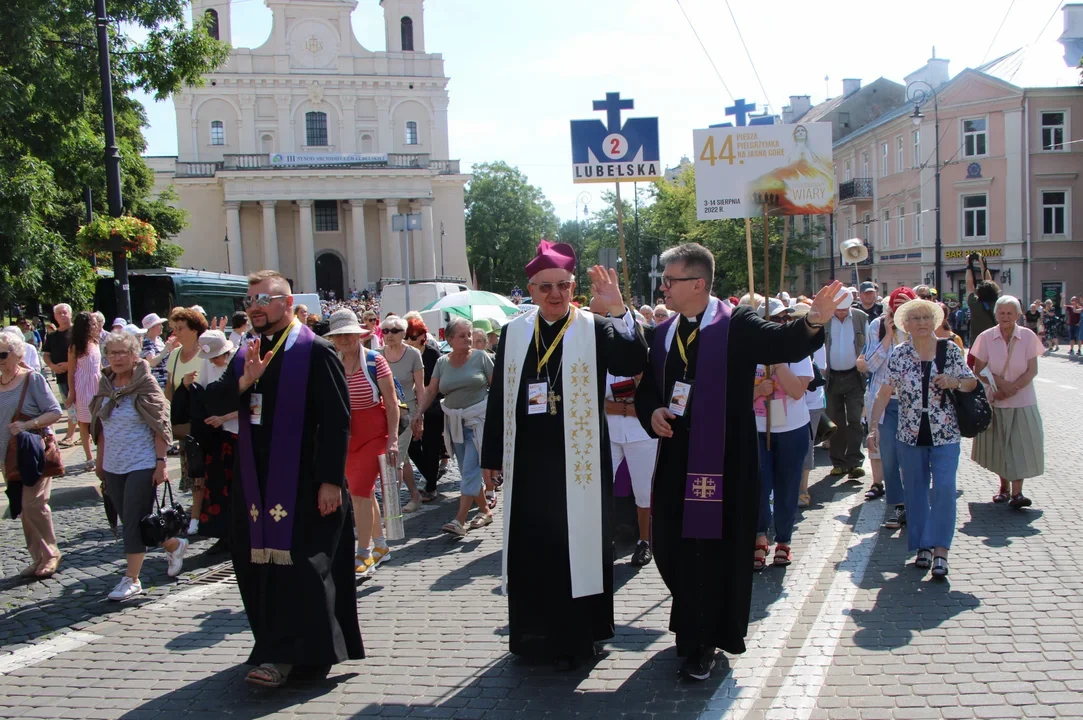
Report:
[[[710,296],[715,258],[707,248],[670,248],[662,263],[674,315],[654,330],[636,413],[661,438],[651,539],[673,595],[680,671],[706,680],[715,650],[743,653],[748,630],[759,512],[756,366],[796,362],[821,346],[841,286],[824,288],[804,320],[781,326]]]

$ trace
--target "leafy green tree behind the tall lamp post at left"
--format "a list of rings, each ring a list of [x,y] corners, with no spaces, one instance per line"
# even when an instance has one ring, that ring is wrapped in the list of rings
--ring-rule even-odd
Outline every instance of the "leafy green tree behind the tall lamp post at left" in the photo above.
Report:
[[[185,219],[169,205],[175,196],[152,197],[154,173],[141,157],[146,116],[128,93],[141,89],[160,99],[198,84],[229,53],[208,35],[207,18],[185,27],[186,5],[186,0],[108,2],[125,209],[153,223],[162,237],[158,251],[133,258],[133,266],[175,263],[180,248],[166,240]],[[93,2],[0,3],[0,305],[64,300],[84,306],[93,275],[75,234],[86,221],[86,187],[94,212],[107,212]]]

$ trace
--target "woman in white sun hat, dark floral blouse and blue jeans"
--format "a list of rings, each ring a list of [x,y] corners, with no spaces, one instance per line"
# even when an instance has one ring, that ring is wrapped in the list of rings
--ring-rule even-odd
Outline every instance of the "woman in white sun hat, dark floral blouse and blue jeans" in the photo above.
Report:
[[[942,312],[928,300],[911,300],[896,311],[896,328],[910,333],[910,342],[898,345],[888,359],[888,377],[876,393],[869,433],[870,449],[877,449],[880,418],[897,394],[896,438],[905,479],[906,542],[917,553],[914,565],[923,570],[931,565],[934,577],[948,575],[948,552],[955,535],[961,435],[955,406],[944,391],[970,392],[978,384],[958,346],[937,340]],[[942,343],[939,353],[938,343]]]

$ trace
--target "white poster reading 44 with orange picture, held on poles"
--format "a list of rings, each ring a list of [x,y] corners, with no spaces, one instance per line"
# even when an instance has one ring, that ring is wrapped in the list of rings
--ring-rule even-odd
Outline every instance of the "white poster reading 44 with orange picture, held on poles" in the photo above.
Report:
[[[700,220],[835,210],[830,122],[693,131]]]

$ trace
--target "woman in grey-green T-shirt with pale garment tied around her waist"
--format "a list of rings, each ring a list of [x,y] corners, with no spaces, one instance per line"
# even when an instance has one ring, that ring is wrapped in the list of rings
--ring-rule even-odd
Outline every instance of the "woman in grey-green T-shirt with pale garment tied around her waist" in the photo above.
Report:
[[[488,387],[493,381],[493,357],[484,350],[472,348],[473,327],[470,320],[453,317],[444,328],[444,337],[452,352],[436,363],[432,380],[425,389],[414,416],[415,434],[423,430],[425,411],[443,393],[444,442],[454,453],[461,475],[459,511],[455,519],[441,529],[449,535],[464,537],[468,531],[484,527],[493,522],[493,513],[482,487],[481,437],[485,426],[485,407]],[[478,514],[467,525],[470,506],[478,506]]]

